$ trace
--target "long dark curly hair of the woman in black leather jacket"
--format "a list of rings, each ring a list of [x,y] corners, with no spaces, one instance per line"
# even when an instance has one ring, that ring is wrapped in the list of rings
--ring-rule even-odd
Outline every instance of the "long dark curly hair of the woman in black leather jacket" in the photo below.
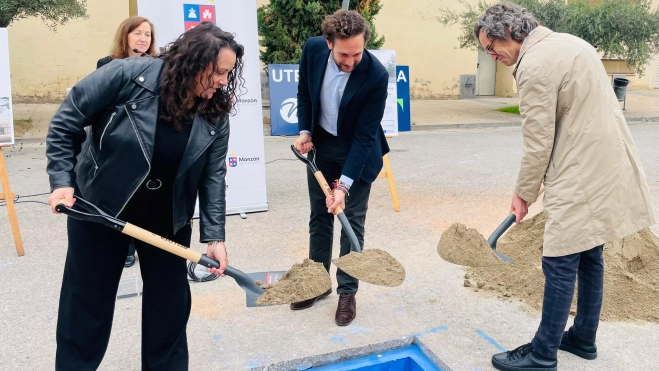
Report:
[[[236,65],[227,75],[227,86],[218,89],[211,99],[204,100],[197,108],[200,116],[214,123],[222,116],[235,113],[233,101],[238,100],[243,93],[243,46],[236,42],[233,34],[222,31],[215,23],[202,22],[169,43],[161,54],[164,63],[161,72],[160,117],[171,122],[177,130],[181,130],[182,122],[194,118],[186,102],[196,98],[196,77],[212,65],[213,73],[206,82],[212,84],[212,76],[218,73],[218,55],[224,48],[236,53]]]

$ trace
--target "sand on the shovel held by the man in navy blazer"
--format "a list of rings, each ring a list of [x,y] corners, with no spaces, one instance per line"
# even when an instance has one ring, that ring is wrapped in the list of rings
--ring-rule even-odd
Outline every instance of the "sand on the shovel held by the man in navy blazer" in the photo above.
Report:
[[[378,286],[396,287],[405,281],[405,268],[391,254],[380,249],[351,251],[334,261],[334,265],[360,281]]]

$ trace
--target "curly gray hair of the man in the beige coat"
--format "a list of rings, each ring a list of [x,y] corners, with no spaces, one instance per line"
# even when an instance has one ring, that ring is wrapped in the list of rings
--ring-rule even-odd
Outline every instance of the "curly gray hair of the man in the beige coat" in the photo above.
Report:
[[[499,3],[491,6],[474,26],[474,36],[478,39],[481,31],[490,40],[510,38],[521,43],[538,27],[538,21],[525,8],[513,3]]]

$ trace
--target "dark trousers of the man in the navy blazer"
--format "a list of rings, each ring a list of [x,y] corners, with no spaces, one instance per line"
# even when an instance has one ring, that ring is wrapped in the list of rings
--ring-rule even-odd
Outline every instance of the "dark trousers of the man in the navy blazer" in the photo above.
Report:
[[[327,182],[331,184],[335,179],[341,177],[348,151],[342,146],[337,137],[320,127],[314,131],[313,141],[316,147],[316,165]],[[307,183],[311,206],[309,258],[315,262],[323,263],[325,269],[329,272],[334,237],[334,214],[327,212],[325,194],[309,168],[307,168]],[[353,179],[350,195],[346,196],[345,215],[362,248],[364,246],[364,225],[370,193],[371,183],[362,179]],[[340,256],[350,253],[350,240],[343,230],[341,230],[340,242]],[[357,293],[359,281],[340,269],[336,272],[336,281],[338,283],[337,293]]]

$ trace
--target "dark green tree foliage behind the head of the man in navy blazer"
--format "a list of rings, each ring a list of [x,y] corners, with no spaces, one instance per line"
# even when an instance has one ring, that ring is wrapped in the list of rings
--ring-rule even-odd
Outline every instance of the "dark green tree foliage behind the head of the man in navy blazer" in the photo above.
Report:
[[[3,0],[0,0],[3,1]],[[257,10],[258,29],[264,47],[261,61],[268,64],[296,64],[302,56],[304,43],[322,35],[321,25],[326,15],[341,9],[341,0],[270,0]],[[382,5],[380,0],[351,0],[350,9],[357,10],[371,25],[371,40],[367,49],[379,49],[384,36],[379,36],[373,20]]]

